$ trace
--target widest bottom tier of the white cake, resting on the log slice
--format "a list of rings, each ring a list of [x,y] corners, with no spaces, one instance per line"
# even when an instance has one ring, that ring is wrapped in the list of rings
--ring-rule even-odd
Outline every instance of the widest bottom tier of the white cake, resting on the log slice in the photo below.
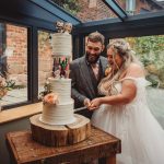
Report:
[[[67,125],[75,121],[73,116],[73,99],[58,105],[44,104],[40,121],[47,125]]]

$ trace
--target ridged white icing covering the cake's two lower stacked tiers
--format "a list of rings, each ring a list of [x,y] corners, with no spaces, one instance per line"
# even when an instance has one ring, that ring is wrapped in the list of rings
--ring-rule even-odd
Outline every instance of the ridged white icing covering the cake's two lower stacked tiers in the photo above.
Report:
[[[49,78],[51,90],[58,94],[59,103],[44,104],[40,121],[48,125],[68,125],[75,121],[74,101],[71,98],[71,79]]]

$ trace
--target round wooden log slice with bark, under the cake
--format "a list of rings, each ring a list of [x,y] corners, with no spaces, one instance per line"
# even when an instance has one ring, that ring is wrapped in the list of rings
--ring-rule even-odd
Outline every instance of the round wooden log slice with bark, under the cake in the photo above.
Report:
[[[45,145],[61,147],[81,142],[91,136],[90,119],[74,114],[75,121],[65,126],[47,125],[39,120],[42,114],[32,116],[32,138]]]

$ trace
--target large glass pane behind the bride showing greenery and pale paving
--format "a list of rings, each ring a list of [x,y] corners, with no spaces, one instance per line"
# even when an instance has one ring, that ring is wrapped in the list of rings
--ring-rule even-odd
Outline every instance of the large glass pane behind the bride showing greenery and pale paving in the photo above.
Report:
[[[136,56],[142,61],[145,78],[148,104],[152,114],[164,128],[164,35],[127,37]]]

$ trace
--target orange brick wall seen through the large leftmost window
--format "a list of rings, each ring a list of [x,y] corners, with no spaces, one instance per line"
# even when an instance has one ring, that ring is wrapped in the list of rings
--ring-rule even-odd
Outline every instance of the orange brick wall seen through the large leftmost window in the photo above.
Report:
[[[27,30],[7,24],[7,65],[17,85],[27,83]]]

